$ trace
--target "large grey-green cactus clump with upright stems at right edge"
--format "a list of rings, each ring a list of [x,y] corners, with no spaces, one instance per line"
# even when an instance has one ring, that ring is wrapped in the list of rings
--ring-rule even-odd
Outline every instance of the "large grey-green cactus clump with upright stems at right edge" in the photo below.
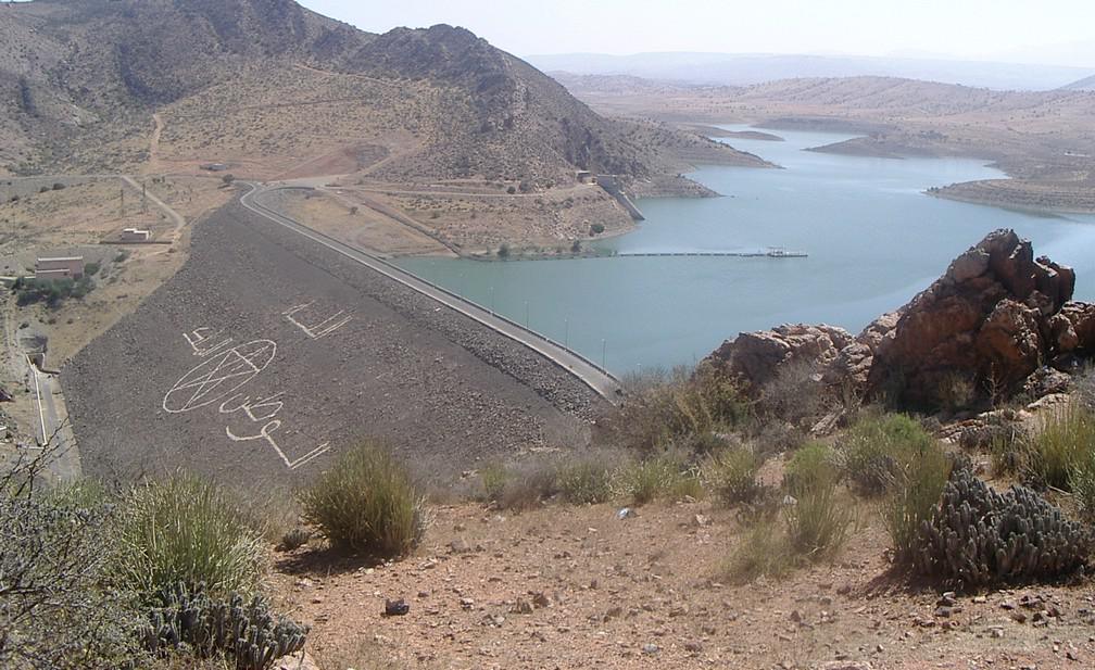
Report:
[[[956,586],[996,587],[1070,575],[1093,548],[1090,529],[1034,490],[1013,486],[1001,494],[956,469],[912,557],[924,574]]]

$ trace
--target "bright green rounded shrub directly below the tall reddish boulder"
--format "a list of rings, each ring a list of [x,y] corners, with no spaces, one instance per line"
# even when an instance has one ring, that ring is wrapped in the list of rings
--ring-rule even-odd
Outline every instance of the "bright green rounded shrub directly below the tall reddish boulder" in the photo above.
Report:
[[[915,420],[903,414],[867,414],[838,442],[841,469],[864,495],[887,490],[912,457],[935,443]]]

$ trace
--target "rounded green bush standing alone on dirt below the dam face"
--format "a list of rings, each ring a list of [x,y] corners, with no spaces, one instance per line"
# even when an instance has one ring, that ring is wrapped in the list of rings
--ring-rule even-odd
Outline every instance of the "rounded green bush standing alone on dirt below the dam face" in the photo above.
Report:
[[[425,531],[424,503],[406,470],[370,441],[343,454],[300,501],[306,521],[341,548],[401,556]]]

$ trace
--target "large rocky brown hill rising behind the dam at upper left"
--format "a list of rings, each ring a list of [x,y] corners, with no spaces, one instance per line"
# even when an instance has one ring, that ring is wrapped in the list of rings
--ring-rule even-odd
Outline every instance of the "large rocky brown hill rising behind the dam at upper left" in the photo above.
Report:
[[[761,164],[696,135],[607,120],[463,28],[374,35],[292,0],[35,0],[0,8],[0,163],[16,173],[153,160],[270,176],[312,161],[535,184],[575,170],[676,173],[684,155]]]

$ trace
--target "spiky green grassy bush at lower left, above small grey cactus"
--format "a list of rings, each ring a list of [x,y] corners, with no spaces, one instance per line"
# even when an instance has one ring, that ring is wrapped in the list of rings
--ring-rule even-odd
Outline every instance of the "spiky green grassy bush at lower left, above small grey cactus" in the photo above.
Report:
[[[250,593],[263,574],[262,541],[234,499],[193,475],[136,487],[123,503],[117,533],[117,573],[146,598],[177,584]]]

